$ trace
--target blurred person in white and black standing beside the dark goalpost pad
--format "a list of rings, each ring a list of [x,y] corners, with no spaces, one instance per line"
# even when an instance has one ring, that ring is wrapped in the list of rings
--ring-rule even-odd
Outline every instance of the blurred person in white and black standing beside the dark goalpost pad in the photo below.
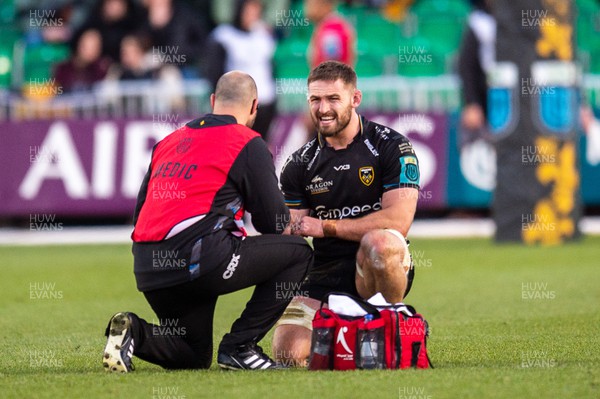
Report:
[[[473,11],[463,36],[458,74],[463,85],[464,108],[461,124],[466,133],[476,134],[487,124],[486,73],[496,59],[496,21],[488,0],[471,0]]]

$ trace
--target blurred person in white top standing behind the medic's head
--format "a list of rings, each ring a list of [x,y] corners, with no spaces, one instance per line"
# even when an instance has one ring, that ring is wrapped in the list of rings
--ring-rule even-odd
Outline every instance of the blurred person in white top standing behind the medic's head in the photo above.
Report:
[[[213,88],[225,72],[240,70],[252,76],[258,88],[260,111],[253,129],[268,139],[276,113],[273,55],[275,40],[262,20],[260,0],[236,0],[232,24],[218,26],[208,45],[206,77]]]

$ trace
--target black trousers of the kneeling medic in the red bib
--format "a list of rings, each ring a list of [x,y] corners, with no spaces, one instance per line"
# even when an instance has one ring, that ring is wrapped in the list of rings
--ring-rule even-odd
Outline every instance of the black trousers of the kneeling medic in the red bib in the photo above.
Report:
[[[292,291],[299,289],[312,263],[312,249],[296,236],[231,240],[232,257],[207,274],[144,293],[159,321],[150,324],[133,315],[135,356],[169,369],[210,367],[218,296],[254,285],[252,297],[223,337],[219,351],[258,342],[267,334],[294,296]],[[203,252],[219,250],[202,248]]]

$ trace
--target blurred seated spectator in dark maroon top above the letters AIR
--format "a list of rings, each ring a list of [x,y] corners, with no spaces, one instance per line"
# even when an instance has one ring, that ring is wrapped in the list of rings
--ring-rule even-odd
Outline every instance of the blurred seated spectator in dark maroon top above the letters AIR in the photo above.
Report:
[[[102,57],[102,37],[89,29],[79,37],[75,53],[58,64],[54,79],[64,92],[84,91],[106,76],[110,60]]]

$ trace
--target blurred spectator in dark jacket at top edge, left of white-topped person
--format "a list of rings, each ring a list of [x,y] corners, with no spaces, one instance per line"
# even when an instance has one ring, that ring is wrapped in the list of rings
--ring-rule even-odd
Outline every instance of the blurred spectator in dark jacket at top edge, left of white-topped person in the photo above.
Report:
[[[148,11],[144,30],[152,51],[164,54],[165,62],[179,66],[184,74],[192,74],[210,32],[210,18],[175,0],[145,0],[144,4]]]

